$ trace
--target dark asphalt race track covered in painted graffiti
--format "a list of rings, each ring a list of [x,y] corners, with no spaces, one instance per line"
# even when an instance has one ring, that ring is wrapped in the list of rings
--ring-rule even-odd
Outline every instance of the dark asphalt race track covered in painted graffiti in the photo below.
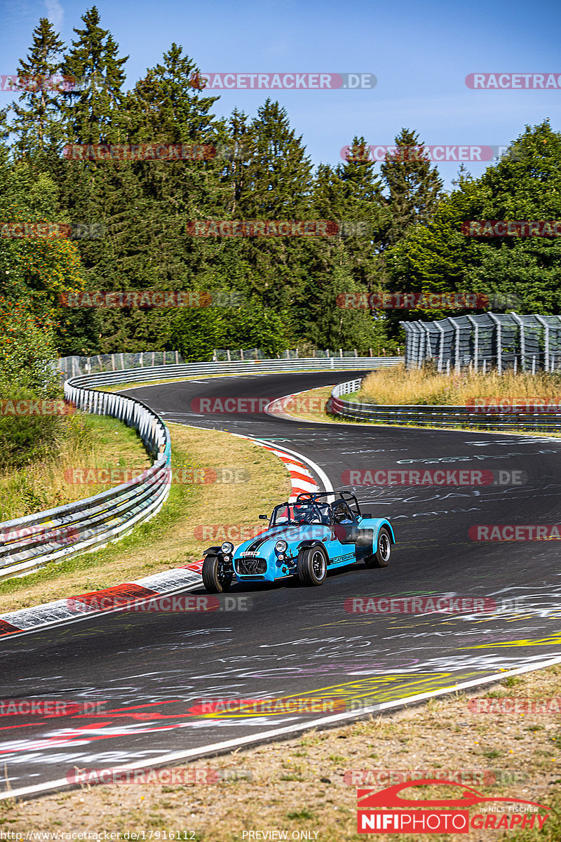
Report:
[[[317,718],[200,716],[201,698],[402,700],[561,655],[559,544],[469,536],[478,524],[561,522],[561,442],[303,424],[264,413],[202,415],[191,408],[193,398],[273,399],[355,376],[201,378],[128,393],[167,421],[228,429],[298,451],[335,488],[341,472],[367,468],[501,471],[503,478],[521,472],[523,484],[360,488],[364,509],[394,525],[398,543],[389,568],[357,565],[332,573],[321,588],[295,581],[234,586],[230,594],[248,596],[246,611],[112,614],[3,639],[3,701],[102,703],[94,715],[0,717],[0,765],[13,790],[60,781],[74,767],[147,765],[167,753]],[[366,614],[345,605],[353,597],[418,595],[495,600],[497,608]]]

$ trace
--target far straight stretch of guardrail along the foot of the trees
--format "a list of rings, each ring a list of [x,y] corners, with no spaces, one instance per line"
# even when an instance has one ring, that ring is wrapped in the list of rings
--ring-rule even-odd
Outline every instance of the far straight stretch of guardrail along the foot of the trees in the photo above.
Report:
[[[371,370],[400,365],[404,357],[304,357],[292,360],[246,360],[245,362],[182,363],[149,368],[101,371],[74,377],[76,386],[112,386],[118,383],[148,383],[155,380],[184,380],[191,376],[230,374],[277,374],[283,371]]]

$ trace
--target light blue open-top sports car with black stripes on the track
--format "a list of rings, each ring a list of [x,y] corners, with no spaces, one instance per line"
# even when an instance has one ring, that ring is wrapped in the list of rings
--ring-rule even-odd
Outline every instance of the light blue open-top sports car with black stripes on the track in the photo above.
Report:
[[[348,491],[302,493],[275,506],[267,530],[234,549],[230,541],[204,551],[204,587],[213,594],[237,582],[276,582],[298,576],[304,584],[325,582],[328,570],[364,562],[388,566],[394,530],[385,518],[361,512]]]

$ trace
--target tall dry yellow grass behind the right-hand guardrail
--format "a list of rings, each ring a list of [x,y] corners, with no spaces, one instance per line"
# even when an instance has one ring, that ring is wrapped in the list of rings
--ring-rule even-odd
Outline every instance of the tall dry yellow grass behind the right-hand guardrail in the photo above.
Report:
[[[496,371],[439,374],[430,369],[406,370],[404,365],[371,372],[356,395],[347,399],[365,403],[417,403],[461,405],[478,400],[561,403],[561,376]]]

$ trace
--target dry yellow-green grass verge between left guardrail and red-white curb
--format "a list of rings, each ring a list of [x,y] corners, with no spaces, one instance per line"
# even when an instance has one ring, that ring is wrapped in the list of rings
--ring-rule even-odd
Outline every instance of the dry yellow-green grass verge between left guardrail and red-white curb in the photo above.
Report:
[[[185,466],[236,466],[246,482],[193,484],[172,482],[166,504],[146,524],[95,552],[66,558],[24,578],[0,582],[0,613],[39,605],[72,594],[130,582],[188,562],[209,546],[194,536],[200,524],[258,525],[257,515],[285,498],[289,479],[283,463],[250,441],[217,430],[170,424],[172,474]]]

